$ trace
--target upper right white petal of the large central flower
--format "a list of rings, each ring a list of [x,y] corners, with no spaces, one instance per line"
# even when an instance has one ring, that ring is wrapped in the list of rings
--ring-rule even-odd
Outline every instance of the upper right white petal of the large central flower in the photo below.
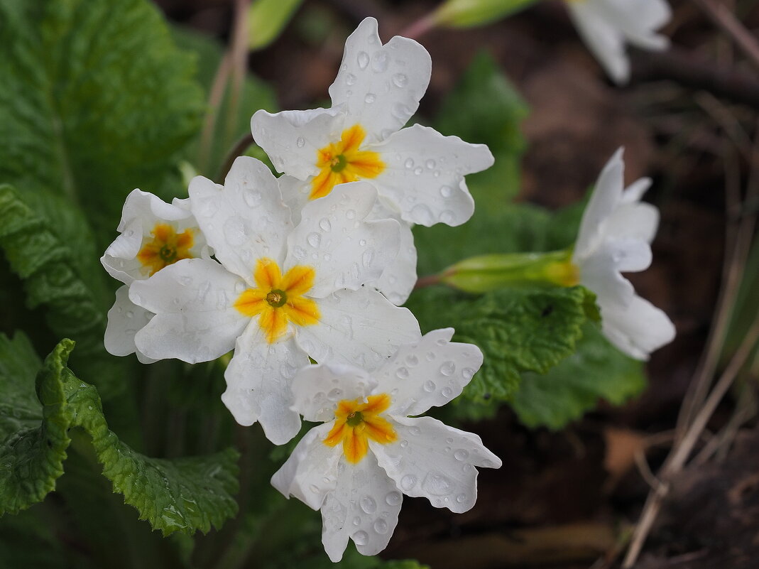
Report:
[[[360,288],[395,261],[401,239],[398,222],[364,221],[375,201],[370,184],[351,182],[335,186],[303,208],[301,223],[288,236],[285,270],[298,264],[315,266],[308,296]]]

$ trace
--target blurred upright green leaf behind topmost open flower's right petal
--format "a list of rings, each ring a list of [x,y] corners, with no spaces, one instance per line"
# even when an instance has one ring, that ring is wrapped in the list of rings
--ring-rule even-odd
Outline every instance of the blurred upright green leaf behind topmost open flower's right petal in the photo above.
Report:
[[[527,142],[520,125],[529,114],[527,103],[500,71],[493,56],[480,52],[440,106],[435,122],[442,134],[487,144],[496,162],[484,172],[467,176],[477,198],[490,207],[505,205],[519,191],[519,163]]]

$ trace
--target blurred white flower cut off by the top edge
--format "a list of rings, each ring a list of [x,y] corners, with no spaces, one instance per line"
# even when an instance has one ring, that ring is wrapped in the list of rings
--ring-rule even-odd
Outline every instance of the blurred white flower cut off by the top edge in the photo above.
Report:
[[[566,0],[569,15],[600,64],[616,83],[630,78],[625,43],[661,51],[669,39],[656,33],[672,17],[666,0]]]

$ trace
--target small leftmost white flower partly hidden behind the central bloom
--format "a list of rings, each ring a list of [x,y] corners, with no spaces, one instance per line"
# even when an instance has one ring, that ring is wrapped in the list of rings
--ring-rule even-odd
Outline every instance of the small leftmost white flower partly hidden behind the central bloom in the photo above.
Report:
[[[129,300],[129,285],[143,280],[181,259],[208,254],[206,239],[190,211],[189,200],[177,198],[166,204],[146,191],[127,196],[118,224],[118,236],[100,262],[109,274],[124,283],[116,291],[116,302],[108,311],[104,343],[114,356],[137,352],[140,362],[150,359],[134,346],[134,334],[153,314]]]

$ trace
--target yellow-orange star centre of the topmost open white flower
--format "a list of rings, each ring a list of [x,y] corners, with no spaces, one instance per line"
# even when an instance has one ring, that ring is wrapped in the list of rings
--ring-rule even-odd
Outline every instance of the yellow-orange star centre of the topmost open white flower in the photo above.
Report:
[[[317,150],[319,174],[311,182],[310,199],[323,198],[335,185],[356,182],[364,178],[376,178],[385,169],[379,153],[359,150],[367,136],[361,125],[342,131],[338,142]]]

